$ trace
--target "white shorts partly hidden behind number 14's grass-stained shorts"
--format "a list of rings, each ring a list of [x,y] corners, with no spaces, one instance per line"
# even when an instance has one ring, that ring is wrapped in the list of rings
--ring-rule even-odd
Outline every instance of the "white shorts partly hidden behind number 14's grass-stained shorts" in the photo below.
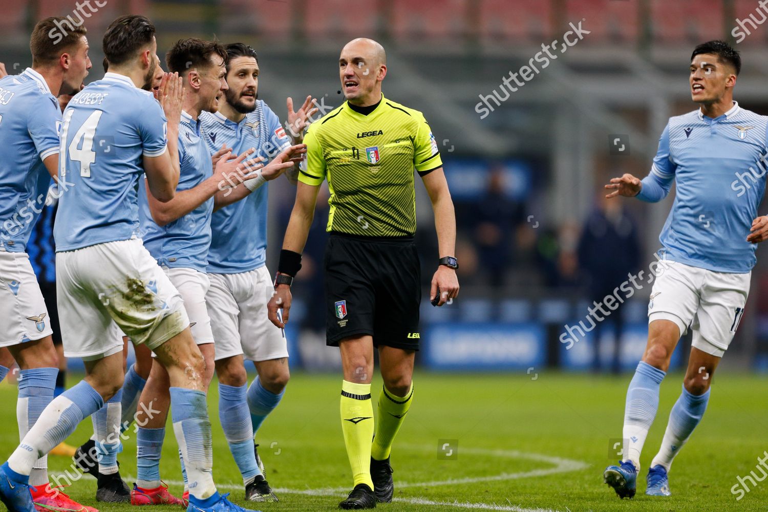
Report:
[[[205,306],[205,294],[210,287],[208,275],[199,270],[183,267],[170,268],[163,265],[160,268],[184,301],[184,309],[190,318],[190,331],[194,342],[197,345],[213,343],[214,333],[210,330],[210,317]],[[152,357],[155,357],[154,352]]]

